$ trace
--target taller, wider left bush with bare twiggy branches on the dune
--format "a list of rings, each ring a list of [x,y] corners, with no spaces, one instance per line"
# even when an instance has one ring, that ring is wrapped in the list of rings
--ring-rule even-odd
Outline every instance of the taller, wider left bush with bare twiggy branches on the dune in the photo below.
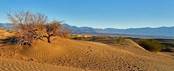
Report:
[[[31,45],[34,39],[41,39],[44,24],[47,23],[47,17],[42,14],[31,12],[18,12],[8,14],[9,20],[14,24],[16,37],[19,44]]]

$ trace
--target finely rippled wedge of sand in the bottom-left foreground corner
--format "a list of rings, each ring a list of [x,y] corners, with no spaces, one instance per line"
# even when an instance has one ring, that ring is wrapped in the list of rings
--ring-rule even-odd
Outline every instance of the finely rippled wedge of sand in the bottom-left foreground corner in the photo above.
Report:
[[[88,70],[0,58],[0,71],[88,71]]]

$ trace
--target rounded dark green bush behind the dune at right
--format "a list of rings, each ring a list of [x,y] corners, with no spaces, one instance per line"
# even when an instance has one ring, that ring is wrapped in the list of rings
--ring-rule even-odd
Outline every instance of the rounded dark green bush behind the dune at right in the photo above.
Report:
[[[142,39],[138,42],[138,44],[146,50],[152,52],[159,52],[164,47],[159,41],[153,39]]]

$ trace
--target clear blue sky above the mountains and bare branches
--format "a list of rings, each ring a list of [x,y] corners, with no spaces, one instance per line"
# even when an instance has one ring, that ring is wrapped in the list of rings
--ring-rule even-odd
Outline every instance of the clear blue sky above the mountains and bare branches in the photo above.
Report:
[[[75,26],[174,26],[174,0],[0,0],[0,22],[8,22],[8,12],[22,10]]]

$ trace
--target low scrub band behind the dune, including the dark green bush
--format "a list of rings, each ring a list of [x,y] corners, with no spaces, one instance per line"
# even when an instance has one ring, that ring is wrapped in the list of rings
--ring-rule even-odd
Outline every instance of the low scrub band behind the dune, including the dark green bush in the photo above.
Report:
[[[72,39],[101,42],[101,43],[105,43],[105,44],[109,44],[109,45],[126,45],[127,42],[125,41],[125,39],[132,39],[132,40],[136,41],[144,49],[151,51],[151,52],[159,52],[159,51],[171,52],[172,51],[171,47],[169,47],[169,44],[166,44],[166,43],[162,44],[160,41],[155,40],[155,39],[139,39],[139,38],[135,39],[135,38],[130,38],[130,37],[109,37],[109,36],[92,36],[92,37],[73,36]]]

